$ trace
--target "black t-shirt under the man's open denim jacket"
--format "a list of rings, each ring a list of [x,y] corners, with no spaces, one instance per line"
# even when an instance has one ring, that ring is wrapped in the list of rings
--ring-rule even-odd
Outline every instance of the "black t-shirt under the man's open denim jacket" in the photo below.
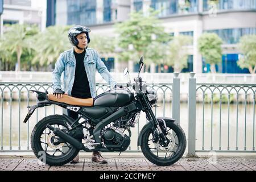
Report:
[[[76,53],[74,51],[74,54],[76,57],[76,73],[71,96],[77,98],[90,98],[92,96],[90,94],[89,81],[84,67],[85,51],[82,53]]]

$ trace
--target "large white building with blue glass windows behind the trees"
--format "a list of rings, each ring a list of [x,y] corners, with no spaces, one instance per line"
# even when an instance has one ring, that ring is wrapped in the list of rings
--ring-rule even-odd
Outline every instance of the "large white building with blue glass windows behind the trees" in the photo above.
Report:
[[[237,66],[237,43],[243,35],[256,34],[256,0],[56,0],[55,5],[55,24],[82,24],[104,35],[115,35],[114,23],[128,19],[131,11],[145,12],[150,7],[160,10],[159,19],[166,32],[193,37],[188,68],[183,72],[210,71],[197,49],[197,40],[203,32],[215,32],[224,42],[217,72],[249,73]],[[163,69],[172,71],[168,67]]]

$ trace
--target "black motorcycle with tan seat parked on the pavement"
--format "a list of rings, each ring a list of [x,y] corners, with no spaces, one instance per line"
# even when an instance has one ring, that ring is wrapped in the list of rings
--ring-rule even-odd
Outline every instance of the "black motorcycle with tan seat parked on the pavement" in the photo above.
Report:
[[[139,73],[143,64],[141,57]],[[28,106],[24,123],[38,107],[53,104],[80,115],[76,120],[66,114],[41,119],[31,133],[31,148],[36,158],[42,159],[44,154],[44,163],[62,166],[71,162],[80,150],[125,151],[131,142],[131,127],[135,127],[143,111],[148,121],[138,136],[143,155],[158,166],[176,163],[186,148],[185,133],[175,119],[155,117],[152,107],[157,107],[157,93],[147,87],[139,73],[134,83],[130,81],[122,88],[110,89],[96,98],[81,99],[63,94],[63,98],[58,99],[47,90],[30,90],[36,92],[37,100],[36,105]],[[126,68],[123,75],[127,74]]]

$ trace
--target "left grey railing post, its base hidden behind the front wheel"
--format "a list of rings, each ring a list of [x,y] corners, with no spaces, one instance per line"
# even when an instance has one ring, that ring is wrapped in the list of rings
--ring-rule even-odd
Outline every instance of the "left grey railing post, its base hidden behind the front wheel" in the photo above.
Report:
[[[172,118],[180,124],[180,78],[175,72],[172,84]]]

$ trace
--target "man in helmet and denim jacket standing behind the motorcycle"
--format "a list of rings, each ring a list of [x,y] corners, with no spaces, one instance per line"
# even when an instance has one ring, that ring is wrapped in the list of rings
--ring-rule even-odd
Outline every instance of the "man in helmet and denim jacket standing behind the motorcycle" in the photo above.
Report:
[[[116,87],[117,82],[110,76],[98,53],[88,48],[89,32],[90,29],[83,26],[75,26],[69,30],[68,38],[73,48],[60,54],[52,73],[53,94],[56,98],[61,99],[63,94],[77,98],[96,97],[96,70],[112,88]],[[64,72],[63,89],[60,85],[62,72]],[[67,111],[73,119],[79,117],[75,111]],[[71,163],[78,162],[79,155]],[[93,152],[92,162],[108,163],[100,152]]]

